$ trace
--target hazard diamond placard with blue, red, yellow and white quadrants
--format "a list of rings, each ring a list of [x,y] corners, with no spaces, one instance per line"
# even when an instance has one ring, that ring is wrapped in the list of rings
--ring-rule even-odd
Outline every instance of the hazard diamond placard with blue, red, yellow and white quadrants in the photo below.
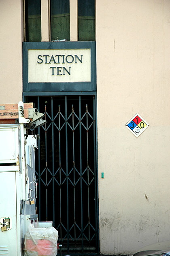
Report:
[[[138,137],[144,130],[146,130],[149,124],[137,113],[134,115],[125,126]]]

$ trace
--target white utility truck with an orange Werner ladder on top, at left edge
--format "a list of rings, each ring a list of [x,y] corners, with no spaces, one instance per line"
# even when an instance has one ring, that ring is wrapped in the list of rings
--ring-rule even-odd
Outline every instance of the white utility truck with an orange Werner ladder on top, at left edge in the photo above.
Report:
[[[38,228],[38,135],[28,135],[28,129],[44,124],[42,117],[33,103],[0,104],[0,255],[27,255],[23,247],[28,226]]]

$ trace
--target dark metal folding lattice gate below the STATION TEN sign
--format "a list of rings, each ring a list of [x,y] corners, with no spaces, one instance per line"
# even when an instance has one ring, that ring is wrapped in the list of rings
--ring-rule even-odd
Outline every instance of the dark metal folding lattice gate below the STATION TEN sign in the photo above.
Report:
[[[47,124],[36,128],[40,221],[53,221],[63,254],[98,254],[95,96],[32,96]],[[34,131],[32,131],[34,132]]]

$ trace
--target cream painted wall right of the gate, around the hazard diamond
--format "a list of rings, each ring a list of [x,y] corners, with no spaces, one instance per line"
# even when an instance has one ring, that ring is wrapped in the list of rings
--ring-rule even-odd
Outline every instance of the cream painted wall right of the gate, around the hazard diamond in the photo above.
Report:
[[[96,0],[96,37],[100,252],[131,254],[170,239],[170,1]]]

